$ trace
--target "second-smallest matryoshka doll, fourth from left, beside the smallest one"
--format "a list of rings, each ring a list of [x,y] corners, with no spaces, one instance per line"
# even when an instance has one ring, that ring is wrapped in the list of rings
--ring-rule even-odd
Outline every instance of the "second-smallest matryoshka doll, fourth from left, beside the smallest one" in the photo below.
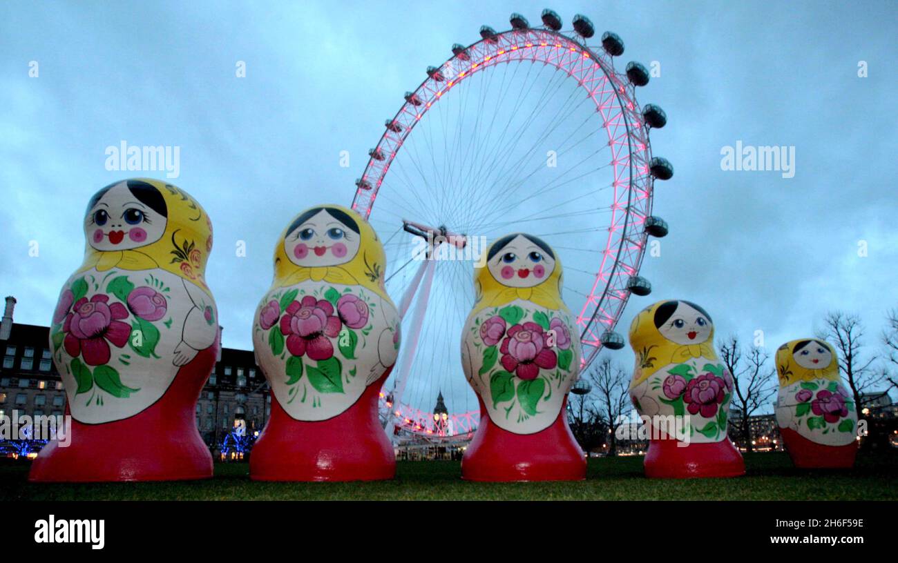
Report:
[[[714,351],[708,313],[690,301],[659,301],[633,319],[629,344],[630,399],[651,431],[646,476],[742,475],[742,455],[726,435],[733,376]]]

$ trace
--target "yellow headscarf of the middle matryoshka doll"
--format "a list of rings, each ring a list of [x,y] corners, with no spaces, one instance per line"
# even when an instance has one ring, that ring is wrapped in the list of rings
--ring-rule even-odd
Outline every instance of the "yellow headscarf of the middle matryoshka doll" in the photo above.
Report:
[[[524,233],[513,234],[521,235]],[[507,235],[493,241],[493,243],[485,250],[487,256],[489,256],[489,251],[492,247],[496,246],[497,242],[506,237]],[[546,243],[543,242],[543,244]],[[547,244],[546,246],[549,245]],[[555,311],[567,311],[568,307],[565,306],[564,301],[561,300],[561,288],[563,285],[561,259],[554,250],[552,250],[552,255],[554,255],[555,269],[550,273],[548,278],[543,280],[540,284],[530,288],[510,288],[504,285],[494,278],[492,273],[489,273],[489,268],[486,265],[481,268],[474,268],[474,288],[477,291],[477,300],[474,303],[472,314],[487,307],[505,305],[515,299],[532,301],[540,307]]]

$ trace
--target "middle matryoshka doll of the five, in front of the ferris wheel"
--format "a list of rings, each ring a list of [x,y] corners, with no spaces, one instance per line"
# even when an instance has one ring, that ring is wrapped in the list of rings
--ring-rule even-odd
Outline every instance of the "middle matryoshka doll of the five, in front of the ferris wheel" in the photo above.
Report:
[[[585,479],[565,409],[580,341],[561,278],[549,245],[523,233],[499,238],[474,271],[477,301],[462,332],[462,368],[480,399],[480,426],[462,458],[464,479]]]

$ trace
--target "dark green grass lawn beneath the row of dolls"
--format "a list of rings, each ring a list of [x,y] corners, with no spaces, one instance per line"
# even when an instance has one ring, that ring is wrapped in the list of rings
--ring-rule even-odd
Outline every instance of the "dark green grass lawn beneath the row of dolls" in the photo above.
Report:
[[[457,462],[400,462],[394,481],[270,483],[250,481],[249,463],[216,463],[208,481],[34,485],[29,463],[0,460],[0,500],[174,499],[896,499],[898,452],[859,454],[845,472],[798,471],[782,453],[745,455],[735,479],[649,480],[641,457],[589,460],[586,481],[471,483]]]

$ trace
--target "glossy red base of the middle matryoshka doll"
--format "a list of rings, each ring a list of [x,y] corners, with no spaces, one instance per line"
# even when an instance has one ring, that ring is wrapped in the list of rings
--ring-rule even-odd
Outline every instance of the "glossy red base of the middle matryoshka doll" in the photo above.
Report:
[[[466,481],[583,481],[586,460],[568,427],[565,407],[536,434],[515,434],[489,419],[480,401],[480,427],[462,457]]]

